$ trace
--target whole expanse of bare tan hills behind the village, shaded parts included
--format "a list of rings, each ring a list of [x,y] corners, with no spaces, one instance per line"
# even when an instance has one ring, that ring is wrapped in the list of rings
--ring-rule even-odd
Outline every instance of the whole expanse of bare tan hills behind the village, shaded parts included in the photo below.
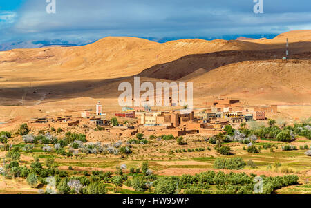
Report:
[[[286,38],[290,60],[282,61]],[[118,109],[118,83],[132,82],[134,75],[152,82],[194,82],[197,104],[216,95],[263,104],[310,103],[310,60],[311,30],[274,39],[165,44],[106,37],[81,47],[10,50],[0,52],[0,105],[8,106],[12,118],[23,116],[10,110],[19,105],[63,109],[104,100],[106,108]]]

